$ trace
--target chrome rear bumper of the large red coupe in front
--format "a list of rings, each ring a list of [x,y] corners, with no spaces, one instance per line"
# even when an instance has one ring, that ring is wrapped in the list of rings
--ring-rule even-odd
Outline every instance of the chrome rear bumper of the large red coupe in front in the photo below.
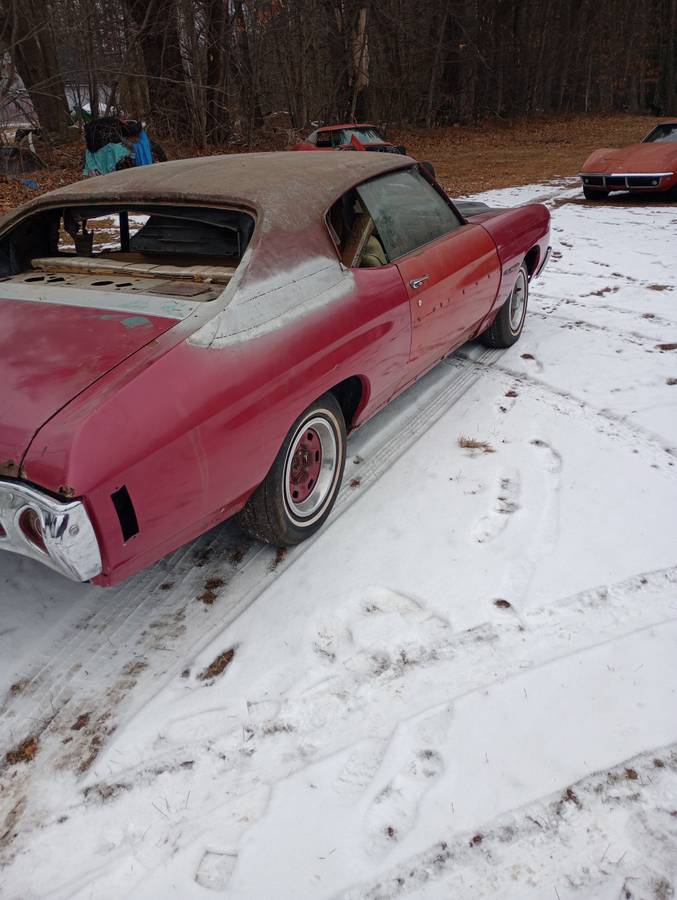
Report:
[[[22,514],[37,515],[44,549],[22,528]],[[101,572],[101,553],[81,500],[60,503],[17,481],[0,479],[0,550],[37,559],[74,581],[89,581]]]

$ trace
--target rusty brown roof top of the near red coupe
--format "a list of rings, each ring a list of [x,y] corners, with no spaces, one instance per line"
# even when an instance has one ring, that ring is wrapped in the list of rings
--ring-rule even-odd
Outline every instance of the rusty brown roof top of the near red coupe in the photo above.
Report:
[[[269,221],[323,213],[361,181],[412,165],[386,153],[239,153],[123,169],[43,194],[14,210],[0,227],[27,212],[61,203],[236,204]]]

